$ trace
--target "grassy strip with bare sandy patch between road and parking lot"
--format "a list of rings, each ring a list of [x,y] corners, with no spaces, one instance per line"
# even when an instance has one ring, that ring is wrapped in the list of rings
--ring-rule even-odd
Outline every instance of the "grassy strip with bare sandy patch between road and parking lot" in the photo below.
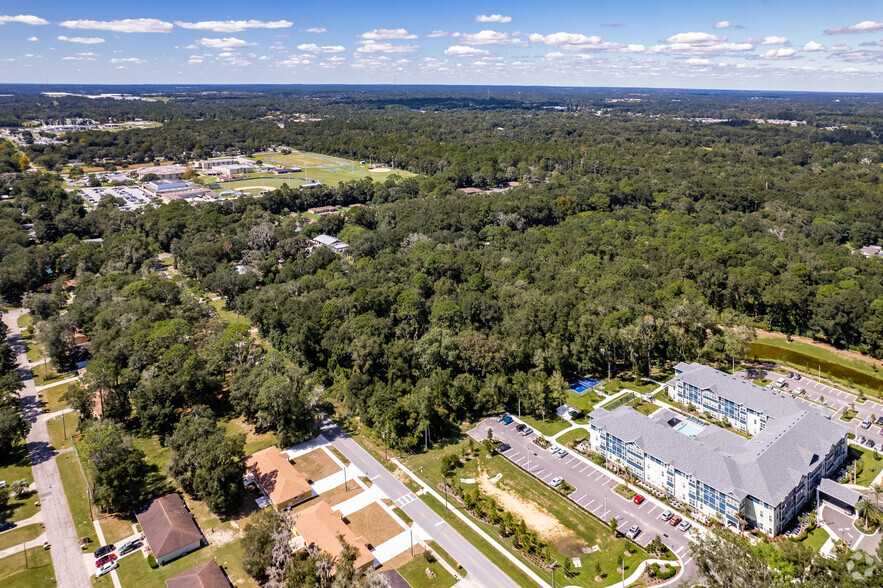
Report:
[[[467,443],[466,441],[461,441],[456,445],[449,446],[444,451],[430,451],[409,457],[406,460],[407,465],[417,471],[422,470],[418,475],[421,475],[430,485],[440,483],[442,478],[437,465],[440,457],[452,452],[463,455],[464,451],[467,450]],[[535,478],[529,476],[504,457],[497,456],[487,459],[484,457],[484,452],[481,451],[478,452],[478,455],[479,457],[469,460],[462,468],[457,469],[454,473],[454,479],[480,478],[481,474],[491,478],[496,474],[502,474],[503,477],[496,487],[507,495],[506,501],[509,502],[508,510],[518,516],[526,517],[529,515],[525,515],[525,513],[534,513],[536,512],[535,507],[539,506],[540,519],[544,518],[546,522],[550,520],[553,522],[557,521],[566,531],[563,534],[550,537],[549,541],[559,563],[563,562],[565,557],[580,557],[582,561],[581,569],[583,572],[568,580],[568,583],[576,586],[597,586],[610,583],[610,578],[616,576],[618,556],[631,544],[630,542],[621,538],[611,539],[611,533],[606,524],[545,484],[537,482]],[[497,502],[503,505],[502,499],[498,499]],[[443,512],[444,505],[440,506]],[[542,514],[542,511],[545,511],[545,514]],[[448,520],[451,521],[452,517],[448,517]],[[528,525],[531,526],[530,521],[528,521]],[[488,534],[495,538],[499,537],[496,527],[484,524],[482,526]],[[514,552],[514,549],[510,546],[511,538],[499,539],[498,541],[507,545]],[[596,544],[600,547],[600,551],[592,554],[582,553],[582,547],[590,547]],[[634,566],[643,561],[646,556],[639,549],[633,548],[632,551],[632,556],[627,560],[627,567],[634,569]],[[486,555],[489,554],[486,553]],[[521,556],[519,555],[519,557]],[[597,584],[594,581],[596,562],[600,564],[602,570],[603,580],[601,584]],[[512,567],[511,564],[504,565],[507,570]],[[538,571],[538,573],[543,577],[546,575],[545,572]],[[628,573],[627,569],[626,575]],[[548,580],[551,583],[551,578],[548,578]]]

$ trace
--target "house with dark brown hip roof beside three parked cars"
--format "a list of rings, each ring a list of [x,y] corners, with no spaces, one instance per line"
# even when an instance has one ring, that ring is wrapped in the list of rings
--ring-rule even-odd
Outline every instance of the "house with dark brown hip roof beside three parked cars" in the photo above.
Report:
[[[193,515],[174,492],[143,503],[135,511],[135,518],[160,565],[202,546],[202,533]]]

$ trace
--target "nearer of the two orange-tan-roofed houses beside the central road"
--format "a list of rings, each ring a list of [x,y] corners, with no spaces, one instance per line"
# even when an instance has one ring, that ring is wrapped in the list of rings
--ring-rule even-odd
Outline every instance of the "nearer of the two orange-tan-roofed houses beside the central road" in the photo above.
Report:
[[[332,510],[324,500],[297,513],[293,527],[292,546],[295,550],[314,546],[336,560],[343,551],[338,539],[342,536],[348,545],[356,548],[356,561],[353,562],[355,569],[364,572],[374,566],[374,554],[368,549],[367,540],[361,536],[356,537],[344,523],[341,512]]]

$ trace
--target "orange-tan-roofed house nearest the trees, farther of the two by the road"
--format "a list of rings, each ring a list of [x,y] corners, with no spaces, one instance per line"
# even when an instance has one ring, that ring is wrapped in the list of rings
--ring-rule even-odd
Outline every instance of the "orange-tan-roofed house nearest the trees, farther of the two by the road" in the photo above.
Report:
[[[268,447],[249,455],[245,468],[276,510],[299,504],[313,496],[306,474],[288,461],[278,447]]]

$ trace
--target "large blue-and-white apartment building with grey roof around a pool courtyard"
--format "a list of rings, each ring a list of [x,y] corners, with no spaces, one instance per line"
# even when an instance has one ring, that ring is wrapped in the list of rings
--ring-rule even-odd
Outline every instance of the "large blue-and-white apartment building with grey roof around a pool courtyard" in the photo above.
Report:
[[[709,372],[717,370],[679,364],[669,384],[677,389],[678,378],[690,382],[699,390],[699,396],[689,393],[695,406],[700,398],[702,407],[712,406],[715,398],[735,402],[738,410],[729,414],[739,416],[728,420],[740,423],[740,430],[757,431],[754,437],[669,409],[648,417],[623,406],[590,414],[591,448],[726,526],[741,528],[741,516],[763,533],[777,535],[846,459],[847,430],[787,395]],[[677,398],[681,402],[684,396]]]

